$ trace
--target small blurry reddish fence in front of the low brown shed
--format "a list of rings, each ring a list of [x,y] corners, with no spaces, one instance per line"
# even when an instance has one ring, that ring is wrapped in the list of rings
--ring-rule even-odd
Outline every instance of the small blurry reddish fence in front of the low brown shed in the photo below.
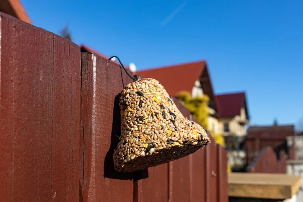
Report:
[[[259,155],[247,167],[251,173],[286,173],[286,154],[280,151],[277,157],[271,146],[261,150]]]

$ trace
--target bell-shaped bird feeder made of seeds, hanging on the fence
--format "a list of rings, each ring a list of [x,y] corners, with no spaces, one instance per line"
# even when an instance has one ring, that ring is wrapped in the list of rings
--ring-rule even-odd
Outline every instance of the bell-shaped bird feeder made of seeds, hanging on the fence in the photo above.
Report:
[[[181,114],[159,81],[129,83],[120,96],[121,136],[115,169],[133,172],[194,153],[210,143],[206,131]]]

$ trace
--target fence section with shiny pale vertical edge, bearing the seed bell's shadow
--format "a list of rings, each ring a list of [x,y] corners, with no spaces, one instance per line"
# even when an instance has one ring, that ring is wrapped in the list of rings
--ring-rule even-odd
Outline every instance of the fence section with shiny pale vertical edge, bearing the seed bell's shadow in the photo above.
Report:
[[[133,174],[115,171],[113,163],[125,74],[113,62],[82,53],[83,201],[133,201]]]

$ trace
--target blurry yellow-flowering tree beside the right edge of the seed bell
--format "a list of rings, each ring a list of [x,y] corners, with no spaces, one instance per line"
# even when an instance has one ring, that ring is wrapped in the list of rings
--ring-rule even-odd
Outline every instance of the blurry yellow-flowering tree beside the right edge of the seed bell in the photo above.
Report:
[[[225,146],[224,137],[220,133],[215,133],[209,129],[209,100],[206,95],[197,95],[192,97],[187,91],[178,92],[175,97],[189,110],[194,118],[205,128],[208,129],[215,139],[216,143]],[[230,165],[227,165],[227,171],[231,172]]]

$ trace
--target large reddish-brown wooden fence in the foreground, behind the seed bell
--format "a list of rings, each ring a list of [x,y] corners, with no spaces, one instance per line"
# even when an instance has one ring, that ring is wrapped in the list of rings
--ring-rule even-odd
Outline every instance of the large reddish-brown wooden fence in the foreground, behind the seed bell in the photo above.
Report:
[[[1,201],[228,201],[227,155],[213,139],[185,158],[116,172],[119,93],[131,79],[54,33],[0,15]]]

